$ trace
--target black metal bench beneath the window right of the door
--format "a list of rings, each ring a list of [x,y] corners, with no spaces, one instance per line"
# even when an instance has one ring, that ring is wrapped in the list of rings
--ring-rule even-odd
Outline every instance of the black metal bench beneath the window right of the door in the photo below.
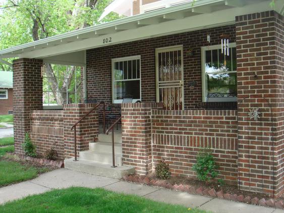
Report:
[[[197,105],[198,108],[204,110],[236,110],[237,109],[236,93],[208,93],[206,102]]]

